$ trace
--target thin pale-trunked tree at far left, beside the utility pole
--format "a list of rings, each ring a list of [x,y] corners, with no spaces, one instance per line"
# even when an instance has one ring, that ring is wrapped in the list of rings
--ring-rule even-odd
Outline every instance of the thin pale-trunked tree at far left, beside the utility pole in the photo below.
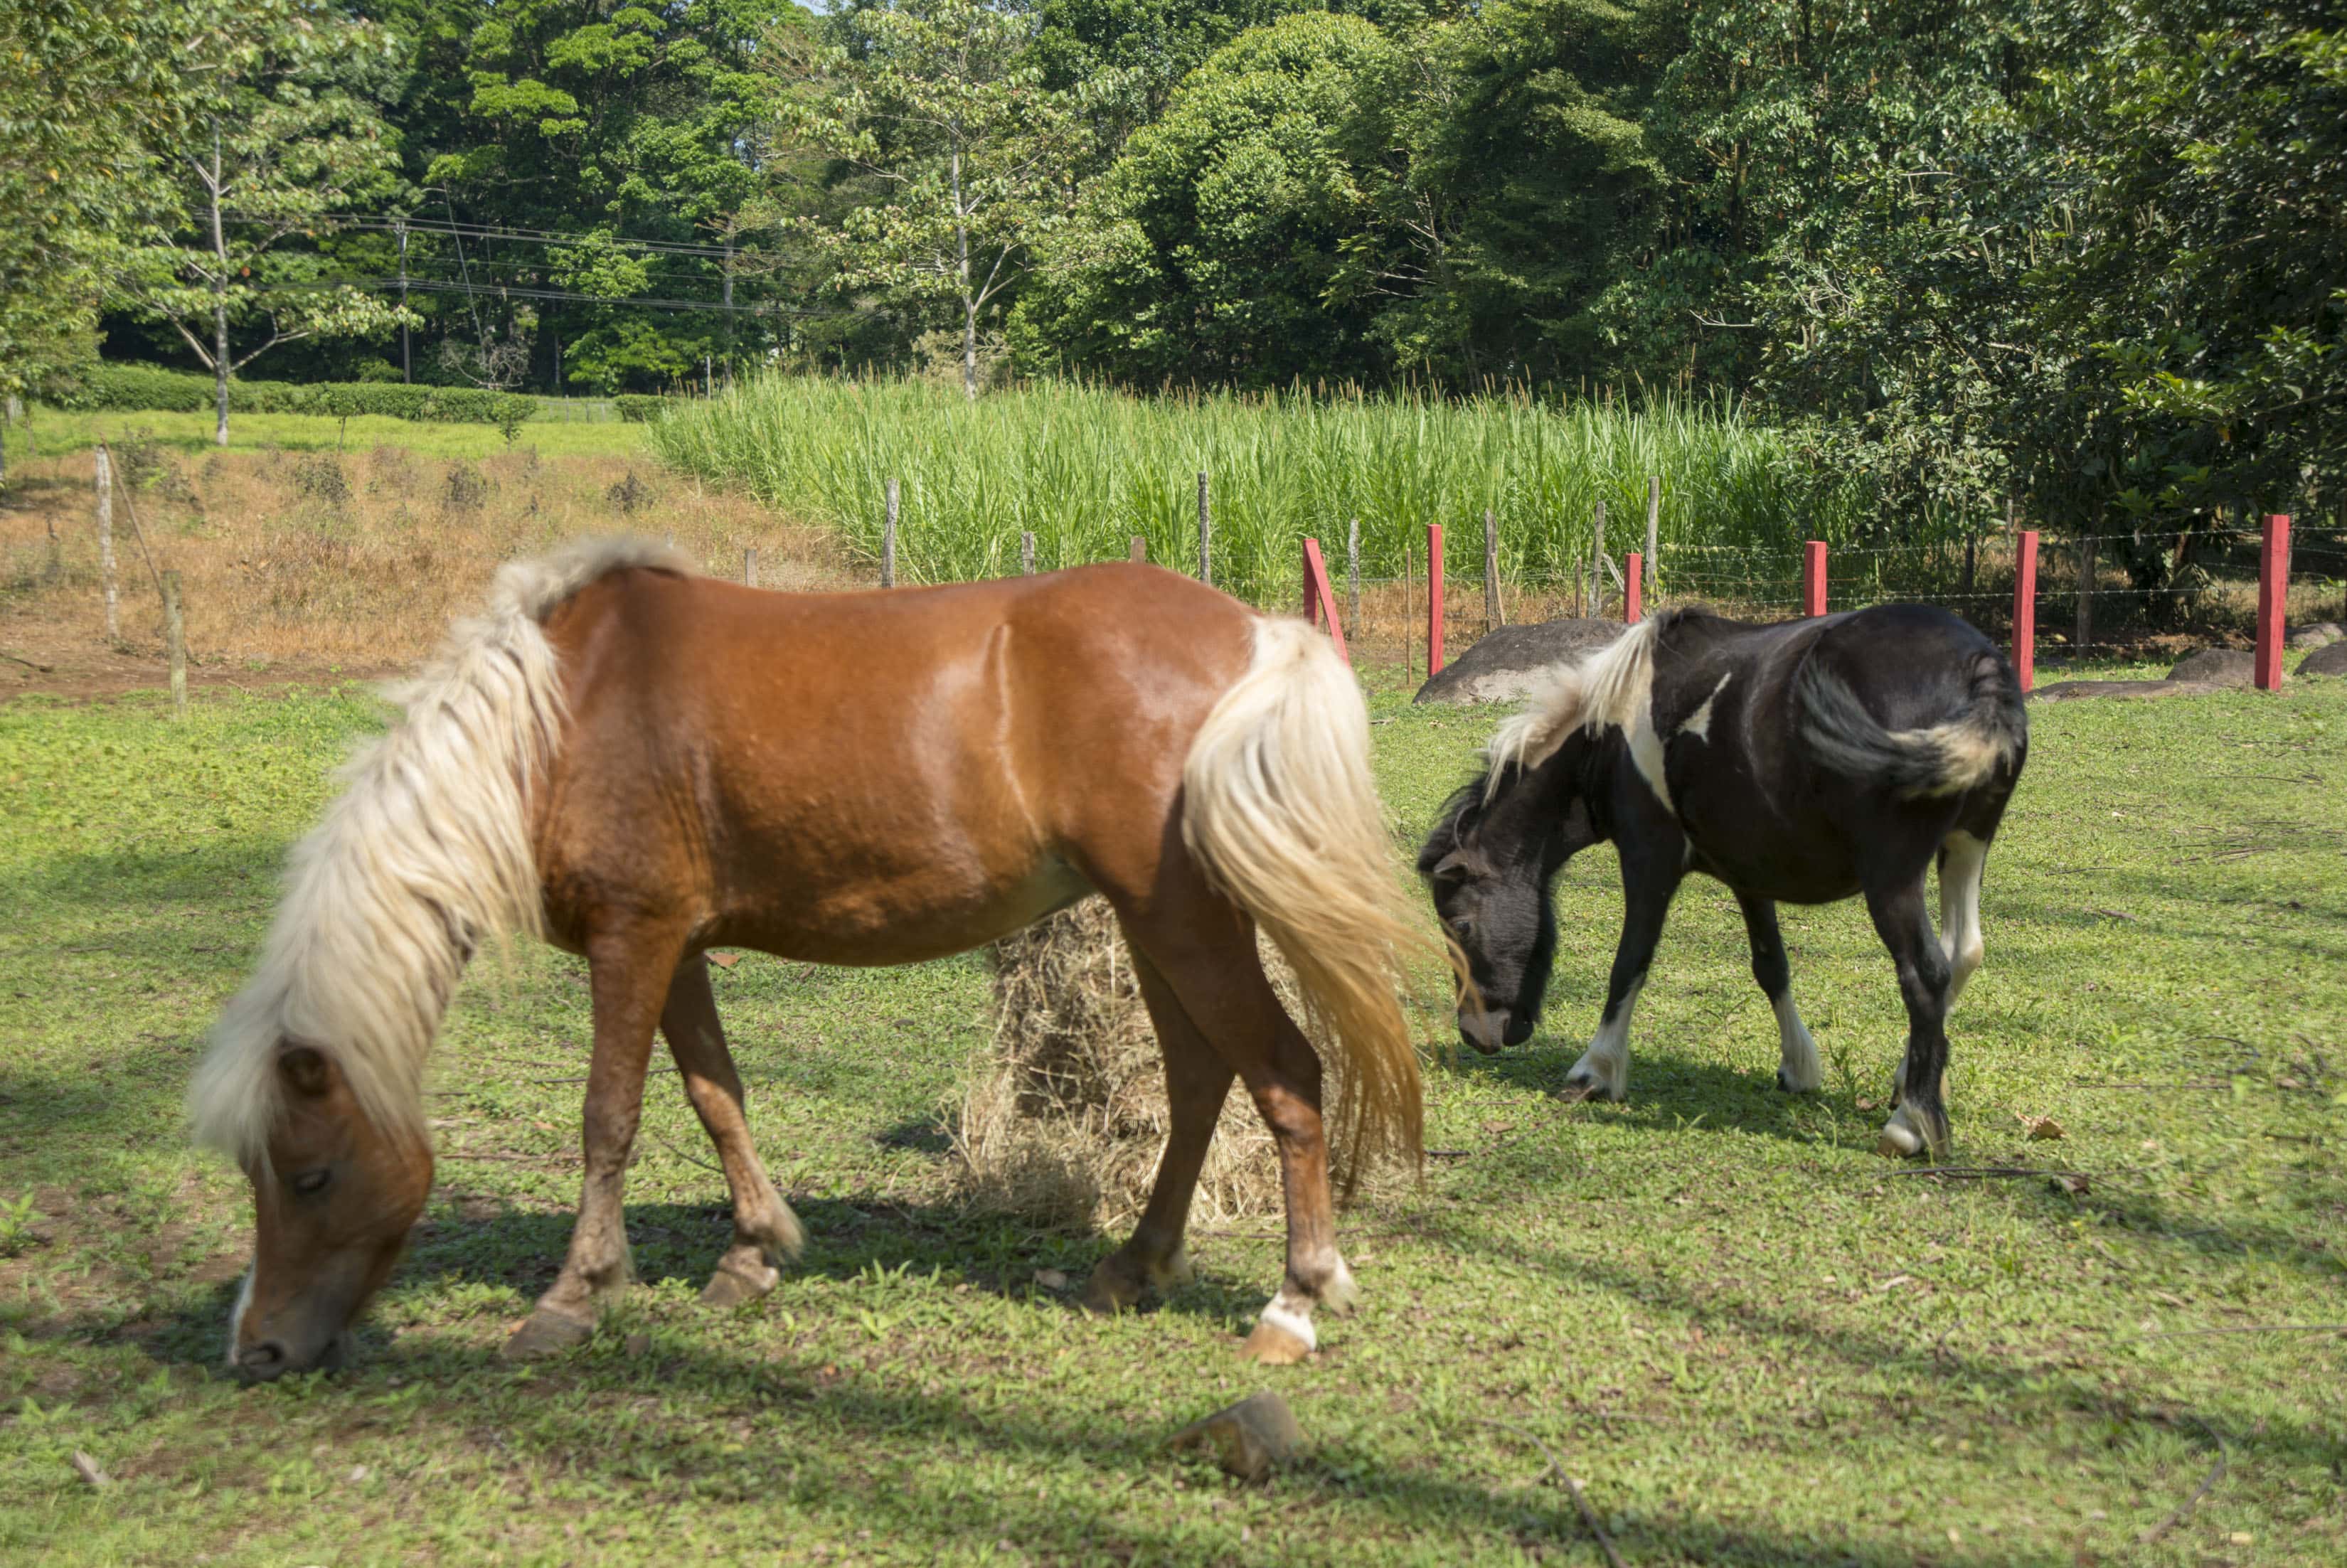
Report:
[[[178,331],[214,373],[221,446],[228,378],[256,357],[404,319],[399,305],[333,284],[314,249],[282,244],[317,237],[354,192],[387,183],[397,160],[366,87],[394,63],[380,28],[300,19],[296,38],[244,63],[223,101],[167,150],[195,225],[155,235],[113,291]]]

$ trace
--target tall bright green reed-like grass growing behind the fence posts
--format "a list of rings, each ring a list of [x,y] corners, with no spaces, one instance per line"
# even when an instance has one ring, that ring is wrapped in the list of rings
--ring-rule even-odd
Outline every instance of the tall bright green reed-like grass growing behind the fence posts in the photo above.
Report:
[[[826,521],[880,552],[885,486],[901,481],[899,570],[915,582],[1037,563],[1197,561],[1197,474],[1211,474],[1213,580],[1256,603],[1296,592],[1298,540],[1342,563],[1361,519],[1361,573],[1425,573],[1425,526],[1446,528],[1453,575],[1483,570],[1483,509],[1500,523],[1511,580],[1556,577],[1589,559],[1594,502],[1610,554],[1645,533],[1648,474],[1664,479],[1662,535],[1791,559],[1805,538],[1854,538],[1854,509],[1795,498],[1798,460],[1727,401],[1641,408],[1516,397],[1129,397],[1037,383],[965,404],[922,380],[772,376],[713,404],[678,404],[652,448],[713,481]],[[1338,566],[1340,568],[1340,566]]]

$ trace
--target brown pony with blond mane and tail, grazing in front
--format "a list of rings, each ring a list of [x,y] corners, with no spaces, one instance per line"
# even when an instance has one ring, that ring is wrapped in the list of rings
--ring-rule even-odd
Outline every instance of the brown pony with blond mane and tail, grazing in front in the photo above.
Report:
[[[631,1279],[622,1176],[652,1030],[725,1169],[735,1242],[702,1300],[770,1291],[803,1230],[742,1117],[702,953],[901,965],[1087,892],[1117,911],[1164,1049],[1171,1136],[1087,1300],[1185,1277],[1183,1225],[1237,1075],[1279,1145],[1286,1279],[1246,1354],[1293,1361],[1354,1282],[1335,1249],[1321,1061],[1256,958],[1296,967],[1340,1052],[1357,1148],[1415,1155],[1418,1056],[1368,721],[1326,638],[1148,566],[887,594],[763,594],[667,549],[507,566],[401,692],[293,850],[258,972],[190,1094],[253,1183],[228,1357],[340,1352],[432,1185],[422,1068],[481,941],[587,958],[584,1192],[570,1253],[507,1343],[584,1340]]]

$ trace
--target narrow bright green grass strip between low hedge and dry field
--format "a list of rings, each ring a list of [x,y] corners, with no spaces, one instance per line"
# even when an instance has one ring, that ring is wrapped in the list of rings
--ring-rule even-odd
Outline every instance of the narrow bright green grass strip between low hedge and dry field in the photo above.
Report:
[[[437,425],[425,420],[394,420],[368,413],[350,420],[331,420],[319,413],[230,413],[228,451],[354,451],[371,446],[406,446],[425,458],[493,458],[505,451],[505,437],[495,425]],[[150,437],[160,446],[202,455],[221,451],[211,444],[211,413],[66,413],[61,408],[35,408],[28,425],[9,425],[7,458],[23,462],[28,455],[56,458],[59,453],[87,451],[99,441],[120,441],[127,434]],[[521,427],[514,446],[535,446],[542,458],[568,455],[617,455],[634,458],[645,451],[643,425],[617,420],[584,423],[545,418]]]

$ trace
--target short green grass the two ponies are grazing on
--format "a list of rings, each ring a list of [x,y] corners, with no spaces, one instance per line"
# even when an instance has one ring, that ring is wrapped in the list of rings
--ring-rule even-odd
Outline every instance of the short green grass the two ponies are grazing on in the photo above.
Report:
[[[1375,697],[1420,831],[1488,711]],[[1547,1444],[1652,1563],[2338,1563],[2347,1340],[2347,681],[2035,714],[1955,1014],[1957,1157],[1880,1162],[1901,1019],[1856,906],[1788,911],[1828,1063],[1774,1091],[1730,899],[1690,885],[1634,1101],[1558,1106],[1619,897],[1563,885],[1554,1012],[1429,1059],[1425,1181],[1354,1209],[1364,1310],[1314,1364],[1237,1361],[1272,1225],[1094,1322],[1035,1284],[1115,1242],[953,1207],[939,1106],[983,1042],[976,960],[718,976],[753,1124],[812,1246],[735,1317],[692,1291],[725,1223],[674,1077],[629,1178],[648,1282],[568,1359],[495,1347],[549,1279],[587,995],[526,953],[460,998],[441,1185],[336,1378],[216,1371],[242,1178],[178,1094],[286,840],[378,723],[354,690],[0,707],[0,1561],[1596,1563]],[[1425,1038],[1446,1030],[1425,1016]],[[2016,1113],[2061,1143],[2025,1143]],[[1310,1439],[1263,1488],[1162,1439],[1256,1387]],[[1497,1425],[1490,1425],[1497,1422]],[[2223,1474],[2157,1540],[2223,1448]],[[84,1486],[89,1453],[113,1483]]]

